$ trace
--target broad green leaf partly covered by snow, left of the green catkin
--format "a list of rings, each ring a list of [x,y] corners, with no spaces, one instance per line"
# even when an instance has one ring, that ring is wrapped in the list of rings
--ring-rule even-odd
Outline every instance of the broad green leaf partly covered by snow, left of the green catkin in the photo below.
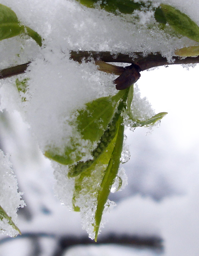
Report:
[[[84,109],[77,110],[77,118],[71,121],[71,125],[77,126],[83,140],[97,143],[107,129],[107,125],[113,117],[117,102],[121,99],[125,90],[114,96],[101,97],[85,104]],[[64,155],[57,155],[46,151],[45,156],[60,164],[73,164],[85,156],[78,150],[80,144],[78,138],[70,138],[70,143],[65,147]],[[75,156],[74,156],[75,154]]]

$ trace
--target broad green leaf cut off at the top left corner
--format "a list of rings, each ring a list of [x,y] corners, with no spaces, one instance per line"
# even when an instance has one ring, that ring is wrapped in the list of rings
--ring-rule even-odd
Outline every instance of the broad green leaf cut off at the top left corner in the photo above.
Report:
[[[20,26],[15,12],[0,4],[0,40],[18,36],[22,32],[24,32],[24,27]]]

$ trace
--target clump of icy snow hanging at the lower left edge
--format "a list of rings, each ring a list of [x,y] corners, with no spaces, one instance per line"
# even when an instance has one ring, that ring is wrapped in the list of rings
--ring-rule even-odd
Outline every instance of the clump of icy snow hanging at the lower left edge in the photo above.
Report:
[[[25,203],[21,200],[21,192],[18,192],[17,180],[14,172],[11,169],[11,163],[8,156],[4,156],[0,150],[0,205],[16,223],[17,210],[19,207],[24,207]],[[1,234],[9,236],[17,236],[18,230],[9,225],[8,220],[3,218],[0,220]]]

